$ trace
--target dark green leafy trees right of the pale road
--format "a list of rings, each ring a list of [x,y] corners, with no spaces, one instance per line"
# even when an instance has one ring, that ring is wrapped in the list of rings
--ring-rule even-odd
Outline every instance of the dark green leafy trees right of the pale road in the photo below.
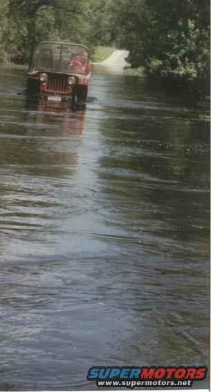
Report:
[[[156,78],[208,80],[208,0],[122,0],[114,8],[117,37],[132,67]]]

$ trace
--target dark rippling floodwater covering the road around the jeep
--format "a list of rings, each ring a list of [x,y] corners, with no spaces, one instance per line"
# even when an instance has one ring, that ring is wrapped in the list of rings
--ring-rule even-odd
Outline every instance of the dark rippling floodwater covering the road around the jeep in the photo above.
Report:
[[[205,104],[99,67],[98,100],[59,112],[17,95],[25,76],[1,68],[1,391],[208,366]]]

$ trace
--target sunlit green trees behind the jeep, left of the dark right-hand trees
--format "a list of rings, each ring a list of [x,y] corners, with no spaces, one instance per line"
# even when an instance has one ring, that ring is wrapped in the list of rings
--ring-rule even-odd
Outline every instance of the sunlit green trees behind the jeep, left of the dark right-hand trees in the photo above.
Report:
[[[25,64],[40,40],[107,45],[110,0],[1,0],[0,58]]]

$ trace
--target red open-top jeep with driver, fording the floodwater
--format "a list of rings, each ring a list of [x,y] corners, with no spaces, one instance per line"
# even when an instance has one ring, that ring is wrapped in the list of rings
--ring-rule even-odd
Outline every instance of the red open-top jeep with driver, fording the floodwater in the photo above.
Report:
[[[90,76],[86,46],[42,41],[35,46],[30,60],[26,93],[49,101],[84,103]]]

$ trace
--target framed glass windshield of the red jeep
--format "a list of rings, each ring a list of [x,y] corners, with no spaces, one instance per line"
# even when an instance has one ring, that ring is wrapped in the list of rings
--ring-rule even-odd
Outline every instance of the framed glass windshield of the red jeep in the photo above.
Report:
[[[35,47],[29,71],[74,73],[74,68],[70,65],[80,63],[80,57],[84,54],[88,60],[89,52],[84,45],[43,41]],[[78,66],[75,73],[85,74],[85,71]]]

